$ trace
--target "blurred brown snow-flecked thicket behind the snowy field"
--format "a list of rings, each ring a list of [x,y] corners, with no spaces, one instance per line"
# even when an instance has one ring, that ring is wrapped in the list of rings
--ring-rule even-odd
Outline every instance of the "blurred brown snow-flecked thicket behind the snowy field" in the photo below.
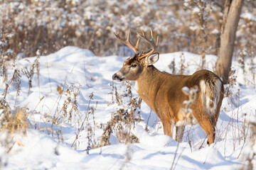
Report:
[[[136,32],[149,34],[152,29],[154,35],[159,35],[159,52],[200,54],[203,69],[206,54],[234,56],[241,61],[255,56],[255,7],[256,1],[245,0],[236,39],[230,44],[233,55],[228,55],[227,49],[220,47],[225,33],[223,26],[231,21],[223,20],[225,0],[2,0],[0,47],[2,56],[8,59],[18,54],[36,56],[37,50],[47,55],[68,45],[92,50],[98,56],[128,56],[132,52],[114,38],[113,32],[124,37],[130,28],[133,37],[137,36]],[[219,75],[228,72],[220,71],[218,66],[224,66],[217,64]]]

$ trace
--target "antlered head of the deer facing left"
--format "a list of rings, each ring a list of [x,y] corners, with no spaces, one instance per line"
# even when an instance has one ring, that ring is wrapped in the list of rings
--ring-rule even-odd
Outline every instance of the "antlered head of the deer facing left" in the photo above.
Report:
[[[139,34],[139,38],[142,38],[146,41],[147,44],[149,44],[152,49],[148,50],[147,52],[139,52],[138,45],[139,45],[139,39],[137,40],[136,45],[132,45],[132,43],[129,41],[129,35],[130,30],[127,35],[127,40],[123,40],[119,37],[118,34],[115,34],[115,37],[120,40],[124,45],[127,45],[128,47],[132,48],[134,50],[135,54],[132,57],[129,57],[127,60],[124,61],[124,64],[122,68],[113,75],[112,79],[117,81],[123,81],[123,80],[132,80],[135,81],[139,78],[139,75],[146,69],[146,67],[149,67],[150,65],[156,63],[159,60],[159,53],[155,52],[157,46],[158,46],[158,37],[156,39],[156,43],[154,42],[153,33],[151,30],[151,40],[146,38],[144,35],[144,32],[142,34]]]

